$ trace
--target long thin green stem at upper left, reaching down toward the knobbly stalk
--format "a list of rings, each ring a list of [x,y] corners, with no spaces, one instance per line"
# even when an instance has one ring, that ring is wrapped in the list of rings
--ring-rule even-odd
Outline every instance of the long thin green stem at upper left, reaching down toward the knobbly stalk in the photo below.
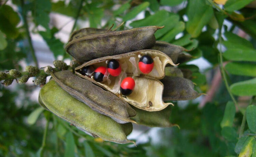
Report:
[[[38,67],[37,57],[35,56],[35,50],[34,50],[32,40],[31,40],[31,37],[30,37],[30,34],[29,34],[28,22],[27,22],[27,11],[25,10],[25,7],[24,7],[24,0],[21,0],[21,8],[22,8],[22,17],[23,17],[24,26],[25,26],[25,29],[26,29],[26,34],[27,34],[27,37],[28,37],[28,43],[29,43],[29,47],[30,47],[30,50],[31,50],[32,58],[35,62],[35,66]]]

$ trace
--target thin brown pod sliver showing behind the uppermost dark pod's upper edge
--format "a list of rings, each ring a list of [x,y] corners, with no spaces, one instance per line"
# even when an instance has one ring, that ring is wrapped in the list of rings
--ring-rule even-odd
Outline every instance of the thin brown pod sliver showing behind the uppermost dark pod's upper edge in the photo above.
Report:
[[[82,38],[86,35],[99,34],[99,33],[104,33],[106,31],[108,31],[108,30],[107,29],[100,29],[100,28],[83,28],[83,29],[72,32],[70,34],[68,42],[71,42],[75,39]]]

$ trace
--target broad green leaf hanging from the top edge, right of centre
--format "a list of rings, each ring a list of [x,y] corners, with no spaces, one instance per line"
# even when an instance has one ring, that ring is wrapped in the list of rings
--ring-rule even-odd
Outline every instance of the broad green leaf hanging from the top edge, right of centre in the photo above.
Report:
[[[213,8],[204,0],[188,1],[187,16],[186,30],[193,38],[196,38],[201,33],[203,26],[212,18]]]

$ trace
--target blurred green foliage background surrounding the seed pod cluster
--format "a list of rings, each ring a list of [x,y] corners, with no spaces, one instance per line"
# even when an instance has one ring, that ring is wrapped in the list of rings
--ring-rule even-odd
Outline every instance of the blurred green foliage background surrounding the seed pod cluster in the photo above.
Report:
[[[44,67],[55,59],[69,63],[64,46],[80,28],[157,25],[165,26],[155,33],[157,40],[193,48],[193,58],[178,67],[207,94],[173,102],[170,122],[180,129],[134,125],[128,139],[135,147],[70,126],[39,107],[40,87],[31,79],[24,85],[14,80],[0,85],[0,156],[256,156],[254,0],[1,0],[0,5],[0,71]]]

